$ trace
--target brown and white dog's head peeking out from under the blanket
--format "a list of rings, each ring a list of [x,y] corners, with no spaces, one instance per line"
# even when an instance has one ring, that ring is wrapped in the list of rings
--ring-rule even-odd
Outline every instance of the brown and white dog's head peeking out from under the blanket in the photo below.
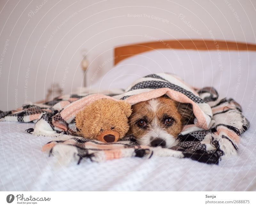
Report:
[[[183,125],[193,123],[191,104],[162,96],[132,106],[130,131],[141,145],[170,148],[178,143]]]

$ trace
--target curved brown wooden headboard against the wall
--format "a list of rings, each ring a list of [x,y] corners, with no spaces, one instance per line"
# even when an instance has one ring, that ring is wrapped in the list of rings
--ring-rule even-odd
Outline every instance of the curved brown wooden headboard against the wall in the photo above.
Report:
[[[115,48],[115,65],[132,55],[137,55],[154,49],[194,49],[194,50],[252,50],[256,51],[255,44],[246,44],[232,41],[213,40],[162,40],[123,45]]]

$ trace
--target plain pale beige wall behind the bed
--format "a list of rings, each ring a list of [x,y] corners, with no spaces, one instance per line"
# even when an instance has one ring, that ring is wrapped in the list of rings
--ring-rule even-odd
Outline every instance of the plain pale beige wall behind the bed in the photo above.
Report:
[[[83,49],[91,85],[94,70],[104,64],[97,79],[112,67],[117,45],[211,36],[255,43],[255,7],[254,0],[1,1],[0,109],[44,99],[53,82],[64,92],[82,86]]]

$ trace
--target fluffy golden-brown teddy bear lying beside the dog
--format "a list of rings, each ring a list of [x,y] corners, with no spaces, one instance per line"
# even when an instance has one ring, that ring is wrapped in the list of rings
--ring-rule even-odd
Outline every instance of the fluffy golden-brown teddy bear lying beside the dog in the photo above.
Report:
[[[123,100],[96,100],[76,115],[77,135],[101,142],[116,142],[128,132],[131,114],[131,105]]]

